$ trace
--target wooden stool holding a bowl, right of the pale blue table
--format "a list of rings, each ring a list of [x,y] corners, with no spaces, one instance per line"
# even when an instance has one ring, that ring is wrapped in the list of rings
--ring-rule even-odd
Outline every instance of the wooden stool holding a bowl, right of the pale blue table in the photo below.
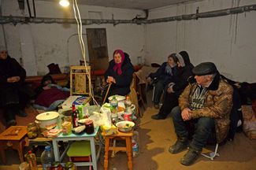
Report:
[[[102,132],[102,135],[104,135],[104,132]],[[104,169],[108,169],[109,164],[109,150],[112,151],[127,151],[128,156],[128,169],[132,169],[132,135],[133,131],[130,132],[121,132],[117,131],[117,134],[114,135],[107,135],[105,136],[105,156],[104,156]],[[119,139],[119,140],[125,140],[126,146],[113,146],[113,143],[110,145],[110,140],[113,139]]]

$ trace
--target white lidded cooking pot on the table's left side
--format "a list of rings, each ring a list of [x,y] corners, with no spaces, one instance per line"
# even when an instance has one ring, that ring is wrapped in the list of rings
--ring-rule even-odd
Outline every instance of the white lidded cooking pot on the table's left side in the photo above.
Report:
[[[49,130],[57,126],[59,113],[57,112],[46,112],[40,113],[35,117],[35,123],[39,124],[40,130]]]

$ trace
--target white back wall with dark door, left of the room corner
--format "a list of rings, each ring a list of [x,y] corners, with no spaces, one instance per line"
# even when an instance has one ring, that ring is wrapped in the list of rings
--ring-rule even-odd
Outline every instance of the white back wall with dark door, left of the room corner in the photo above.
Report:
[[[98,6],[79,7],[83,19],[88,19],[91,11],[102,13],[102,19],[109,20],[132,20],[138,14],[143,15],[141,10]],[[35,8],[36,17],[74,18],[72,8],[64,11],[58,6],[57,2],[35,1]],[[28,9],[25,6],[24,11],[20,10],[17,0],[3,0],[2,15],[28,17]],[[27,31],[22,31],[24,27],[28,28]],[[23,59],[24,68],[27,70],[28,76],[46,74],[49,72],[46,65],[50,63],[58,63],[63,70],[69,65],[79,65],[79,60],[82,59],[79,41],[76,36],[76,24],[27,24],[27,26],[5,24],[4,28],[9,54],[11,57],[16,58],[17,61],[20,61],[20,57]],[[130,54],[134,65],[137,64],[137,57],[144,56],[145,26],[143,25],[83,25],[83,34],[86,34],[86,28],[106,28],[109,60],[112,59],[113,50],[116,49],[124,50]],[[2,30],[0,29],[0,31]],[[86,41],[86,35],[84,35],[84,40]],[[88,56],[87,60],[89,60]]]

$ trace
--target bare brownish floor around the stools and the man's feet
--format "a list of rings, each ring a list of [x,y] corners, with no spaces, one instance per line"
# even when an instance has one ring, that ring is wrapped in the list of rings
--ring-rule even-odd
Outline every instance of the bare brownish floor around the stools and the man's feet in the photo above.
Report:
[[[233,142],[227,142],[219,147],[220,157],[210,161],[206,157],[199,157],[198,161],[190,167],[180,164],[180,158],[186,153],[173,155],[168,152],[169,146],[176,141],[173,122],[170,117],[165,120],[152,120],[150,116],[158,113],[157,109],[148,106],[143,117],[139,120],[139,156],[132,161],[135,170],[183,170],[183,169],[207,169],[207,170],[256,170],[256,140],[248,139],[243,133],[236,134]],[[213,150],[214,146],[207,146]],[[204,150],[207,151],[207,150]],[[9,150],[9,166],[0,165],[0,169],[18,169],[19,161],[17,152]],[[103,169],[103,152],[98,161],[98,169]],[[13,165],[10,165],[13,164]],[[80,167],[79,169],[87,169]],[[109,158],[109,169],[127,169],[127,157],[125,153],[117,153],[115,157]]]

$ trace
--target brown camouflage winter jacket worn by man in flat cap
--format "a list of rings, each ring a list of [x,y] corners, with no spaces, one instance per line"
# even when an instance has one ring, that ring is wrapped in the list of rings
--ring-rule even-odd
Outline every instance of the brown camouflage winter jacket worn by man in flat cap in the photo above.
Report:
[[[197,88],[197,83],[189,83],[184,92],[180,94],[180,109],[190,108],[190,99]],[[220,75],[214,77],[213,82],[206,91],[206,100],[202,109],[191,111],[192,119],[202,116],[211,117],[215,120],[215,131],[217,142],[223,142],[228,135],[230,124],[229,114],[232,109],[233,88]]]

